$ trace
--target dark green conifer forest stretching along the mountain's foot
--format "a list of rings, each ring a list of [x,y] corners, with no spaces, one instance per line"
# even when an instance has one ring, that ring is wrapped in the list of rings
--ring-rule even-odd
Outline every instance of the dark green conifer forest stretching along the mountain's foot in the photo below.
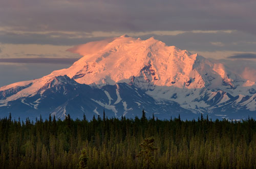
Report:
[[[0,119],[0,168],[256,168],[256,121]]]

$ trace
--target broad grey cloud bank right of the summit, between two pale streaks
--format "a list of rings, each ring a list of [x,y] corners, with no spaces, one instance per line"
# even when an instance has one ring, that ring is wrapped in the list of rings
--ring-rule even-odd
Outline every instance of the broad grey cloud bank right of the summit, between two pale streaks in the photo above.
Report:
[[[186,32],[176,36],[145,35],[141,39],[147,39],[154,36],[167,45],[174,45],[180,49],[196,51],[242,51],[256,52],[256,36],[243,32],[234,31],[232,33],[193,33]],[[213,45],[212,42],[221,42],[223,46]]]

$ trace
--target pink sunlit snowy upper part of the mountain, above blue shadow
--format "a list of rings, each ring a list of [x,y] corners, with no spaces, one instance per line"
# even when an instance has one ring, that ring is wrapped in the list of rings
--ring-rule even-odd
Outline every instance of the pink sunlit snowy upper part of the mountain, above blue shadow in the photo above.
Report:
[[[127,35],[121,37],[94,42],[93,52],[88,52],[92,48],[88,47],[90,43],[73,48],[72,52],[84,57],[57,74],[67,74],[78,83],[98,86],[130,83],[132,79],[135,80],[133,77],[137,77],[140,85],[187,89],[209,86],[215,89],[226,84],[234,88],[229,73],[222,65],[211,63],[197,53],[167,46],[154,37],[146,40]]]

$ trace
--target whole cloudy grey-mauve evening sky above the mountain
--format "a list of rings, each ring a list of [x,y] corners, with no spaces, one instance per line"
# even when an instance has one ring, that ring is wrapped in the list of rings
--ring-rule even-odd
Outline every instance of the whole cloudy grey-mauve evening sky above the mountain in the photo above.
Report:
[[[78,44],[127,34],[256,80],[255,0],[0,0],[0,87],[68,68]]]

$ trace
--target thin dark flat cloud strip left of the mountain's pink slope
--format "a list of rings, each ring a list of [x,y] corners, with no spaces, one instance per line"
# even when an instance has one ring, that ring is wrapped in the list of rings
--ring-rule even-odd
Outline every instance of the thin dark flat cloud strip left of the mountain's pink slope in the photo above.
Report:
[[[73,64],[79,58],[3,58],[0,59],[2,63],[44,63],[44,64]]]

